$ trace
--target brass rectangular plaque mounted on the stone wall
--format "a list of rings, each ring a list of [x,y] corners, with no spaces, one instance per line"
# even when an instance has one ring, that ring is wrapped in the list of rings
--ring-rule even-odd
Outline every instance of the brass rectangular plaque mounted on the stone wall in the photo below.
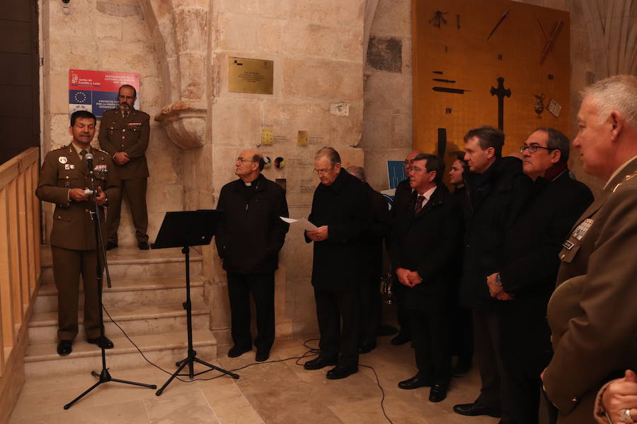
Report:
[[[228,57],[228,91],[272,94],[274,61]]]

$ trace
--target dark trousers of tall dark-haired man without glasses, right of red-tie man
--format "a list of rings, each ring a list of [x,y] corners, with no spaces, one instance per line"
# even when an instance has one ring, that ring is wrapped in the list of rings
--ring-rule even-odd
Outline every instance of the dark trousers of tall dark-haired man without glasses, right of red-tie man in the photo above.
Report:
[[[480,369],[482,387],[476,401],[502,412],[508,419],[508,388],[501,379],[504,365],[500,357],[500,329],[495,310],[474,309],[474,343],[476,362]]]

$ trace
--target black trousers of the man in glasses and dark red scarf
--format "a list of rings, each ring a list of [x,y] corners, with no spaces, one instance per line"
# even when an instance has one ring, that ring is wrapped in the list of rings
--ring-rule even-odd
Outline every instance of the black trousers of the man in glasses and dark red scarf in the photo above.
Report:
[[[504,365],[501,377],[510,401],[507,422],[512,424],[536,424],[539,420],[542,388],[539,375],[551,360],[547,304],[548,299],[512,300],[498,311]]]

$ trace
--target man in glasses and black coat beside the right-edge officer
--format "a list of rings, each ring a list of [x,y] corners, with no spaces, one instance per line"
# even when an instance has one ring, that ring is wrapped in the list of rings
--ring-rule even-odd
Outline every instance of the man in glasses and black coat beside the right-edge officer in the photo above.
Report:
[[[539,375],[551,359],[546,306],[555,287],[558,253],[593,196],[569,176],[569,141],[561,132],[537,129],[521,152],[524,173],[534,180],[534,198],[515,219],[502,265],[487,283],[493,298],[507,299],[498,310],[502,378],[511,401],[507,423],[536,424]]]

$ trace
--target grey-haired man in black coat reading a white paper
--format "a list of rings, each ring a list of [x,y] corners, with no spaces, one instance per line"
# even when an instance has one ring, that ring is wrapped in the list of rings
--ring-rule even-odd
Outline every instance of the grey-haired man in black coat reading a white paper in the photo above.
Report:
[[[312,285],[321,351],[304,367],[336,365],[326,377],[340,379],[358,372],[360,285],[368,273],[365,231],[373,211],[367,188],[341,167],[334,148],[316,152],[314,171],[321,184],[314,191],[308,219],[318,228],[306,231],[305,238],[314,242]]]

